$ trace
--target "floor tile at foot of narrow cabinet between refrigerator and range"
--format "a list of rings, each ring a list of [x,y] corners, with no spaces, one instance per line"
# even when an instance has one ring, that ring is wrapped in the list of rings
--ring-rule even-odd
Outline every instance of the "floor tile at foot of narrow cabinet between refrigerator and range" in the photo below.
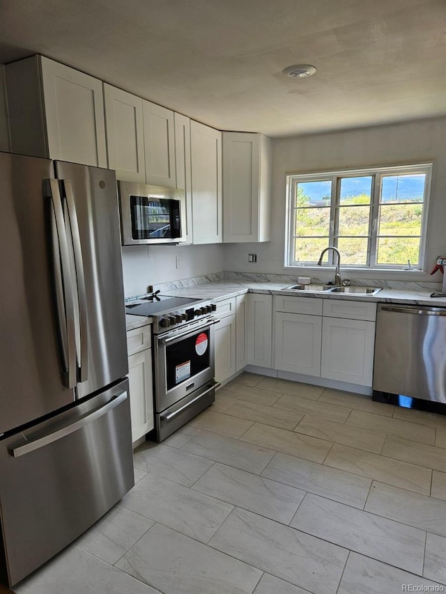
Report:
[[[185,487],[193,485],[213,464],[212,460],[164,444],[141,446],[135,451],[133,460],[139,469]]]

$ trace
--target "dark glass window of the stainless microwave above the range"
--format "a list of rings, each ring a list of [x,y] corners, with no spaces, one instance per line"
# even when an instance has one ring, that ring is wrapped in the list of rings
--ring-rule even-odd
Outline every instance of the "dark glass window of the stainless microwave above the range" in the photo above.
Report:
[[[180,203],[171,198],[130,196],[132,239],[180,237]]]

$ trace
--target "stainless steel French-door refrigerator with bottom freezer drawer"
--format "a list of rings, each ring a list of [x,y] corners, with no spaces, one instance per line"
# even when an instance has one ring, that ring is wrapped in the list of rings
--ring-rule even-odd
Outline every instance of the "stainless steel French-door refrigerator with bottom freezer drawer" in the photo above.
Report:
[[[134,484],[113,171],[0,153],[0,582]]]

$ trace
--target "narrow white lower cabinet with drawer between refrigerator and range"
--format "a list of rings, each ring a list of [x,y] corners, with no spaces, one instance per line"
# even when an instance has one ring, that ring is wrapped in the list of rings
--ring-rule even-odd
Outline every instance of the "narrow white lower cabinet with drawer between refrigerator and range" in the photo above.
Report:
[[[150,327],[127,333],[130,417],[133,443],[153,429],[153,377]],[[133,353],[133,354],[130,354]]]

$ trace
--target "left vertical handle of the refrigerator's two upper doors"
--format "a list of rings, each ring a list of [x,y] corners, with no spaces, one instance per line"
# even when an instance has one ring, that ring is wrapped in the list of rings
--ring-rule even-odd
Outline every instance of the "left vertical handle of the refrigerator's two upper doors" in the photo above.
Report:
[[[63,384],[74,388],[76,378],[75,312],[65,221],[58,180],[47,180],[51,198],[52,249],[57,302],[57,321],[63,359]]]

